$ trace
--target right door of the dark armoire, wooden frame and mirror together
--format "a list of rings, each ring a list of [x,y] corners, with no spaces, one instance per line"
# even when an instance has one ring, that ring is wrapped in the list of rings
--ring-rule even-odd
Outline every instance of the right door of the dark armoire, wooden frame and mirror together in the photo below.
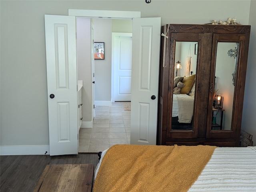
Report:
[[[208,138],[231,138],[235,135],[235,116],[240,79],[237,77],[244,35],[214,34],[215,58],[212,59],[212,90],[208,106]],[[211,104],[211,106],[210,106]]]

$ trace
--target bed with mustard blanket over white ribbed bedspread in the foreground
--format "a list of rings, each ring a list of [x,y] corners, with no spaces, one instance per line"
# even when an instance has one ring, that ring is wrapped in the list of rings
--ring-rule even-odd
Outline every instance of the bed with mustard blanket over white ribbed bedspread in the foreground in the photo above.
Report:
[[[256,147],[113,145],[94,179],[94,192],[255,192]]]

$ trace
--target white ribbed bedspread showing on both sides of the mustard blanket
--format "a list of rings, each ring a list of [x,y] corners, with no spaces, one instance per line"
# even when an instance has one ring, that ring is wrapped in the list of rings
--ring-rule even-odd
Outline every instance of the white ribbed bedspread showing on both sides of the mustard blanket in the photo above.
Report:
[[[94,179],[105,151],[95,168]],[[189,192],[256,192],[256,147],[218,147]]]

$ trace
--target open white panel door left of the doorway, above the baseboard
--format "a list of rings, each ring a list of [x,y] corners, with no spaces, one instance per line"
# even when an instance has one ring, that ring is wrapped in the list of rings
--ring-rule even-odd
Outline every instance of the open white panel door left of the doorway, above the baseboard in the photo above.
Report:
[[[78,154],[76,20],[45,15],[50,155]]]

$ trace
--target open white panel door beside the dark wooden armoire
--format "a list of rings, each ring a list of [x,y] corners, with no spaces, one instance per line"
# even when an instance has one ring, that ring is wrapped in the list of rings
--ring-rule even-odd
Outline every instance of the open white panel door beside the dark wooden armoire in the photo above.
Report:
[[[131,144],[156,145],[161,18],[132,26]]]

